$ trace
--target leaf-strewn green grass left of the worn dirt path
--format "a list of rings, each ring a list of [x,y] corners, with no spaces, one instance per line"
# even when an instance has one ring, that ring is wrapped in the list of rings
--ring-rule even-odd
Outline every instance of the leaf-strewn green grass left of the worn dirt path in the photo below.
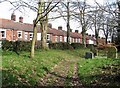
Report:
[[[16,54],[11,51],[2,52],[2,84],[3,86],[34,86],[40,77],[51,70],[55,64],[64,59],[77,57],[74,51],[39,50],[35,58],[29,58],[29,52]]]

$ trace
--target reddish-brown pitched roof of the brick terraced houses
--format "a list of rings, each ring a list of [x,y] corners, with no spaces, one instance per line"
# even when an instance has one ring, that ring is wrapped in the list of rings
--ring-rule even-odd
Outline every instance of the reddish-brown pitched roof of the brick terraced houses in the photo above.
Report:
[[[15,22],[13,20],[9,20],[9,19],[3,19],[3,18],[0,18],[0,28],[33,32],[33,24],[20,23],[20,22]],[[38,26],[37,28],[38,28],[38,32],[41,32],[40,26]],[[58,30],[55,28],[49,28],[48,33],[57,35],[57,36],[67,36],[66,31]],[[76,32],[70,32],[70,36],[73,38],[82,38],[82,35]]]

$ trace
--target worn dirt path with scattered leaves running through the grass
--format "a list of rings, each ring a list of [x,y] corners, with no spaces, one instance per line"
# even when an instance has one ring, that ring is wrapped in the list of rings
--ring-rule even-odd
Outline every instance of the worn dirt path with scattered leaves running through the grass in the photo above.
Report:
[[[79,86],[82,87],[78,77],[78,60],[67,59],[54,66],[52,71],[47,71],[47,75],[41,78],[39,86]]]

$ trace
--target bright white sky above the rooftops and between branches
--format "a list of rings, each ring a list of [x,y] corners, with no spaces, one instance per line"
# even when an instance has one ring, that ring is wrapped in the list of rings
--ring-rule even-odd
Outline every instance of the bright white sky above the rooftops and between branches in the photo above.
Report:
[[[105,0],[96,0],[96,1],[100,4],[103,4]],[[107,1],[113,1],[113,0],[107,0]],[[87,2],[91,5],[94,5],[94,0],[87,0]],[[6,2],[0,3],[0,18],[11,19],[11,14],[12,14],[11,8],[12,8],[12,5],[10,5],[9,3],[6,3]],[[24,23],[33,23],[33,19],[35,19],[35,17],[36,17],[36,14],[30,10],[27,10],[26,13],[20,13],[19,11],[16,11],[15,15],[16,15],[17,22],[19,21],[19,17],[22,16],[24,18],[24,20],[23,20]],[[66,30],[66,23],[62,18],[51,21],[50,23],[52,23],[52,26],[54,28],[58,28],[58,26],[62,26],[63,29]],[[79,25],[75,22],[71,22],[70,26],[71,26],[71,29],[76,30],[76,29],[78,29]],[[91,32],[91,30],[88,31],[88,33],[90,33],[90,32]]]

